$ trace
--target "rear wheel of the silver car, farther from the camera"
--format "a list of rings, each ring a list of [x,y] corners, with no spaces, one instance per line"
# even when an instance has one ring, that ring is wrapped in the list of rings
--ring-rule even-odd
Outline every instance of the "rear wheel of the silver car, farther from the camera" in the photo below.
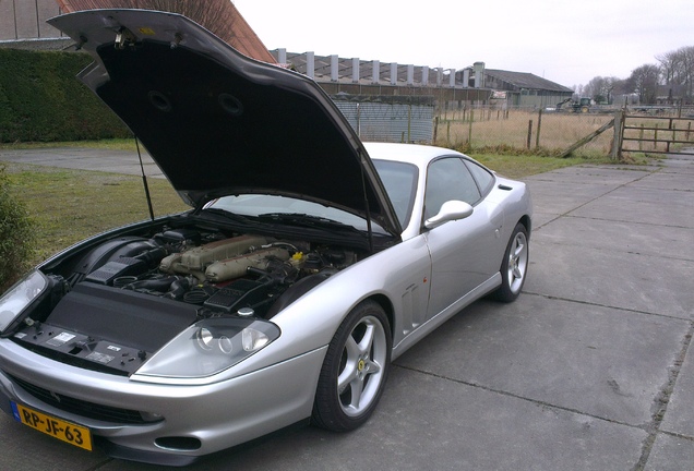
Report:
[[[529,258],[528,231],[518,222],[501,263],[501,286],[493,292],[494,299],[508,303],[518,298],[528,273]]]

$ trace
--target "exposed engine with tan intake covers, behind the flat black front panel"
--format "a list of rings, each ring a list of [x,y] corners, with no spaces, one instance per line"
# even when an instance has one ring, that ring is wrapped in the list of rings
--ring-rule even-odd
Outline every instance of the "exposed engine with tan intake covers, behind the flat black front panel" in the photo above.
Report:
[[[109,247],[107,257],[98,254],[98,261],[85,261],[87,273],[80,273],[83,279],[77,282],[199,305],[210,311],[203,316],[234,314],[243,307],[243,315],[272,317],[278,311],[271,306],[295,282],[316,274],[324,279],[358,259],[352,251],[308,242],[262,235],[226,238],[190,229],[113,243],[119,246]]]

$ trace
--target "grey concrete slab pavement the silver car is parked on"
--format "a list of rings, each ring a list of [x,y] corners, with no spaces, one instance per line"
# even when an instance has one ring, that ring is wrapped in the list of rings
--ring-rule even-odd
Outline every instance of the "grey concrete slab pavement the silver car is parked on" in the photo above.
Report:
[[[133,172],[129,157],[89,153],[0,160]],[[525,181],[536,215],[517,302],[477,302],[400,357],[356,432],[301,428],[191,469],[694,469],[694,159]],[[0,440],[0,469],[164,469],[4,415]]]

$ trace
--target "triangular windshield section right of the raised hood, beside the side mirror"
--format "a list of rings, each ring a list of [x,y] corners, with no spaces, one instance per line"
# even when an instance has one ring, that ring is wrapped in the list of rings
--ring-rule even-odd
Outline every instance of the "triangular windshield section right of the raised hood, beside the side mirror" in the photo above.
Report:
[[[391,203],[393,203],[397,220],[402,227],[407,227],[417,192],[417,178],[419,176],[417,167],[411,164],[390,160],[373,160],[373,166],[381,177]]]

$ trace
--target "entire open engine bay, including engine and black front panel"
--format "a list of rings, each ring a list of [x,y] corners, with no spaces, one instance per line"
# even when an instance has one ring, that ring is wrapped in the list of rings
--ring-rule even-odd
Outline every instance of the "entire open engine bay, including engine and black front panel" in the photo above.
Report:
[[[47,273],[48,294],[12,338],[63,362],[130,375],[195,322],[270,319],[359,259],[345,247],[196,227],[118,237]]]

